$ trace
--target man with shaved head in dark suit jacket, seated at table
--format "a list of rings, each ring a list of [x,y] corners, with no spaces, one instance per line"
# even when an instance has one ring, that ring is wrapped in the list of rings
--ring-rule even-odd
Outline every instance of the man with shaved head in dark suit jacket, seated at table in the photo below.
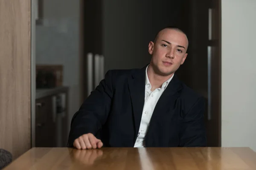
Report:
[[[110,70],[73,116],[69,147],[204,147],[204,99],[178,80],[188,40],[178,28],[149,42],[142,69]]]

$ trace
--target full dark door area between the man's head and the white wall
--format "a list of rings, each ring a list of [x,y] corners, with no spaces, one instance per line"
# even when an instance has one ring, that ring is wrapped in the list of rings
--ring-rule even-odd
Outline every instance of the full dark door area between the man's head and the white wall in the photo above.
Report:
[[[188,57],[178,77],[206,99],[205,124],[209,147],[221,146],[220,1],[186,0],[183,24],[189,39]]]

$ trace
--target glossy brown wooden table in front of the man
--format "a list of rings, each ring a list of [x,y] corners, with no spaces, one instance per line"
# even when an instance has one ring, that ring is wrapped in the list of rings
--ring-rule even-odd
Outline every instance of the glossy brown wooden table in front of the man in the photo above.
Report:
[[[6,170],[256,170],[250,148],[32,148]]]

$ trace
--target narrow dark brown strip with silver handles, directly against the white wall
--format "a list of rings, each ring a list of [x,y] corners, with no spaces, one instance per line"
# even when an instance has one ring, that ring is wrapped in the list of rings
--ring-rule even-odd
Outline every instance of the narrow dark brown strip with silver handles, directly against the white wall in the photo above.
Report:
[[[208,8],[208,145],[221,147],[221,0],[212,0]]]

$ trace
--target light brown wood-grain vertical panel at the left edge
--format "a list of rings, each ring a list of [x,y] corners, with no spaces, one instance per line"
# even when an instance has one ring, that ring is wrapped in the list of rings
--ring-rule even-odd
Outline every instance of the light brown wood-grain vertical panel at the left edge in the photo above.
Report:
[[[0,0],[0,148],[30,148],[30,0]]]

